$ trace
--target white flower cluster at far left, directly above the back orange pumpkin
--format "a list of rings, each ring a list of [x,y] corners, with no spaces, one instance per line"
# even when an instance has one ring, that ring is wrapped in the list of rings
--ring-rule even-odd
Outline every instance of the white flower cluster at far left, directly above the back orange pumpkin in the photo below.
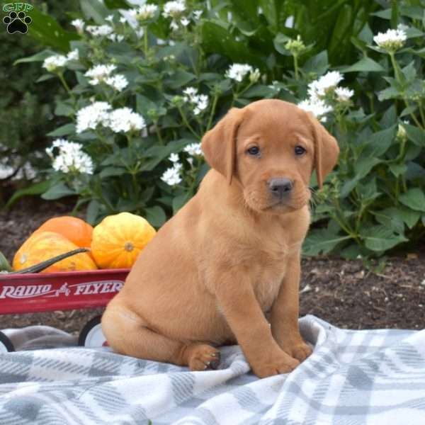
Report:
[[[56,157],[53,154],[55,148],[59,150]],[[82,148],[83,146],[79,143],[57,139],[52,143],[52,147],[47,147],[46,152],[52,158],[52,166],[56,171],[93,174],[93,161],[86,152],[83,152]]]

